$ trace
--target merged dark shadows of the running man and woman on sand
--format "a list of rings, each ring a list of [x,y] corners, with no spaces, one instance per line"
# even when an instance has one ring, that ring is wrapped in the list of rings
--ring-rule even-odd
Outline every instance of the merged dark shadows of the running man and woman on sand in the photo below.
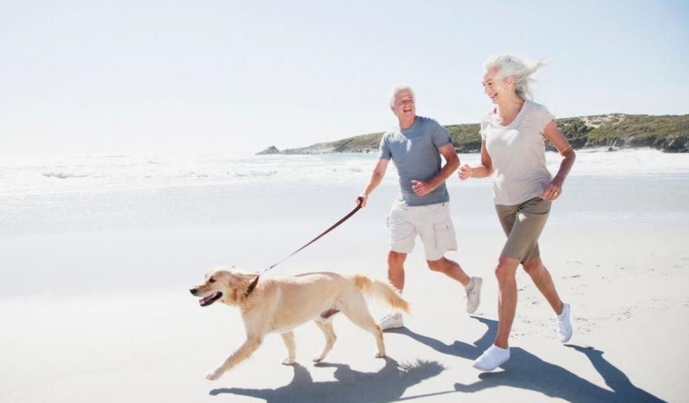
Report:
[[[475,344],[455,341],[451,345],[412,332],[408,329],[398,331],[422,344],[426,344],[440,353],[455,355],[475,360],[488,348],[495,337],[498,323],[495,320],[474,317],[487,325],[488,330]],[[603,351],[591,347],[580,347],[572,344],[566,346],[583,353],[591,361],[594,368],[612,390],[607,390],[580,378],[563,367],[545,362],[525,351],[523,348],[511,348],[511,357],[502,366],[502,372],[485,372],[479,375],[480,381],[463,385],[454,384],[454,390],[462,393],[474,393],[496,386],[512,386],[526,390],[534,390],[549,397],[559,397],[568,402],[664,402],[650,393],[637,388],[629,378],[617,367],[603,358]]]

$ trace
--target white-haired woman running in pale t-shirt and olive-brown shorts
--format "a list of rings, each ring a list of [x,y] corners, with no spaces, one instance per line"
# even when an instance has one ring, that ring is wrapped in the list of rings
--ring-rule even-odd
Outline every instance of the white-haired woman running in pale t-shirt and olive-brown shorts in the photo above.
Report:
[[[517,309],[515,274],[519,264],[555,311],[560,341],[566,343],[572,335],[569,304],[557,295],[538,250],[538,236],[548,219],[550,204],[562,195],[564,179],[575,158],[548,109],[529,100],[531,75],[543,64],[527,64],[513,55],[494,55],[486,60],[483,88],[495,107],[481,121],[480,164],[459,169],[463,181],[493,177],[495,209],[507,235],[495,267],[498,332],[493,345],[473,363],[482,371],[492,371],[510,359],[508,339]],[[555,177],[545,166],[545,139],[563,157]]]

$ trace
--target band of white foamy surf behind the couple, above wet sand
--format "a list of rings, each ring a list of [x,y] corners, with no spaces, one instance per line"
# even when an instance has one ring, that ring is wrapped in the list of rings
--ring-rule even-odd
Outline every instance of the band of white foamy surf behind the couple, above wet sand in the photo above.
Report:
[[[546,153],[551,171],[559,155]],[[463,163],[478,154],[460,155]],[[277,183],[360,185],[376,155],[109,155],[0,162],[0,197]],[[579,150],[573,176],[687,174],[689,157],[657,150]],[[387,180],[390,175],[387,176]]]

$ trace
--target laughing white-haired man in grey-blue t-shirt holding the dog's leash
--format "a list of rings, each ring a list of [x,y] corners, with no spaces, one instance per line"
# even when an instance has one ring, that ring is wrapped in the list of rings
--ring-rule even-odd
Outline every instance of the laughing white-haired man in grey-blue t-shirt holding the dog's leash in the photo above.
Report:
[[[414,92],[408,85],[390,90],[390,108],[399,127],[383,135],[378,162],[373,175],[361,193],[361,206],[380,184],[388,162],[397,167],[401,197],[395,201],[388,217],[390,252],[388,278],[400,292],[404,288],[404,261],[421,237],[429,269],[459,281],[466,290],[466,311],[473,313],[480,303],[480,277],[469,277],[457,262],[445,258],[447,250],[457,250],[450,195],[445,179],[459,167],[459,157],[450,134],[435,120],[416,115]],[[440,154],[445,157],[441,167]],[[383,330],[403,327],[401,313],[391,313],[381,320]]]

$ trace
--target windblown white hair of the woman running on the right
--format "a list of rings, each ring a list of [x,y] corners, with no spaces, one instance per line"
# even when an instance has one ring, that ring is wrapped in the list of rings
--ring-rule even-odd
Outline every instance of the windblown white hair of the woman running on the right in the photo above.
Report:
[[[536,82],[531,75],[538,69],[548,64],[548,59],[540,59],[538,62],[528,62],[515,55],[504,53],[502,55],[492,55],[483,62],[483,73],[495,69],[500,78],[515,78],[515,92],[521,99],[531,99],[531,83]]]

